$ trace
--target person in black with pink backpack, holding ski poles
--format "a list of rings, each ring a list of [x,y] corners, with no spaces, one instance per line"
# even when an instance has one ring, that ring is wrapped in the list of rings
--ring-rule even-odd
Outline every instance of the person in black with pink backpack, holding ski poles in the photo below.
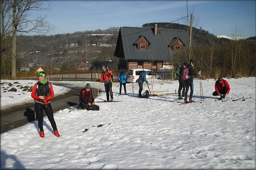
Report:
[[[190,76],[189,79],[184,80],[185,82],[185,87],[186,87],[186,91],[185,91],[185,99],[184,102],[188,103],[188,102],[193,102],[192,101],[192,96],[193,96],[193,91],[194,91],[194,82],[193,82],[193,76],[196,76],[198,74],[201,74],[201,71],[199,71],[198,73],[194,73],[194,64],[195,62],[193,60],[189,61],[189,64],[186,66],[187,68],[189,68],[189,73],[188,75]],[[189,91],[189,87],[190,87],[190,94],[189,94],[189,101],[187,100],[187,95],[188,95],[188,91]]]

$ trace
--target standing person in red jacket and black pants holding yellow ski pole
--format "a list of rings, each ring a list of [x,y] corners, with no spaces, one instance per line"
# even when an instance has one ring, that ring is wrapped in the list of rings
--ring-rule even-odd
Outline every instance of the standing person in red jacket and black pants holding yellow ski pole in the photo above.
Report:
[[[114,100],[113,92],[112,92],[112,80],[113,80],[113,73],[111,70],[107,71],[105,66],[102,66],[102,74],[101,79],[97,79],[96,82],[104,81],[105,91],[107,100],[109,100],[109,95],[111,97],[111,102]]]

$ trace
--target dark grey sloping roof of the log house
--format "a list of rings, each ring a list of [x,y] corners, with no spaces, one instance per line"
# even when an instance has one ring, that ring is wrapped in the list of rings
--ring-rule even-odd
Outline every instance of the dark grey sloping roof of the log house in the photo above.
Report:
[[[149,42],[148,50],[137,49],[134,43],[137,43],[142,37]],[[119,45],[123,45],[123,57],[128,60],[167,60],[174,38],[179,38],[184,45],[188,44],[188,31],[157,28],[157,34],[154,35],[154,28],[142,27],[120,27],[119,37],[116,44],[115,56],[118,54]],[[122,40],[122,43],[120,41]],[[154,54],[154,57],[151,55]],[[121,56],[121,55],[120,55]],[[119,56],[119,57],[120,57]],[[117,56],[118,57],[118,56]]]

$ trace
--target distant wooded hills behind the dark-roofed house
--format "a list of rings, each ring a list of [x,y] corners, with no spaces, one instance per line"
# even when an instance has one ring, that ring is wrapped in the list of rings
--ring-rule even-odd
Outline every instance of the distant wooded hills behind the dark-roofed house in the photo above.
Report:
[[[142,27],[189,30],[189,26],[178,23],[146,23]],[[95,30],[95,31],[76,31],[72,34],[55,34],[55,35],[35,35],[17,37],[18,57],[22,59],[20,65],[33,65],[34,69],[47,65],[52,68],[60,68],[63,62],[69,65],[78,66],[85,62],[86,46],[88,62],[98,59],[104,46],[115,48],[118,38],[119,29],[112,30]],[[193,28],[193,42],[198,45],[209,45],[212,40],[215,44],[229,42],[229,37],[216,37],[203,29]],[[255,40],[255,37],[247,38]],[[101,54],[105,56],[106,54]],[[108,54],[109,55],[109,54]],[[111,55],[109,55],[111,56]],[[102,59],[104,60],[104,59]]]

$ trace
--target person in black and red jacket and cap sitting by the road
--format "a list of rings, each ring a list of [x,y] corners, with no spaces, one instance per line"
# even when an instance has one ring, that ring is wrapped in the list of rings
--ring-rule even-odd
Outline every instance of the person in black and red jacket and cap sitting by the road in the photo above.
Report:
[[[79,107],[80,108],[86,108],[87,106],[94,105],[94,98],[93,98],[93,93],[92,90],[90,89],[90,84],[87,83],[85,85],[85,88],[83,88],[80,91],[80,96],[79,96]]]

